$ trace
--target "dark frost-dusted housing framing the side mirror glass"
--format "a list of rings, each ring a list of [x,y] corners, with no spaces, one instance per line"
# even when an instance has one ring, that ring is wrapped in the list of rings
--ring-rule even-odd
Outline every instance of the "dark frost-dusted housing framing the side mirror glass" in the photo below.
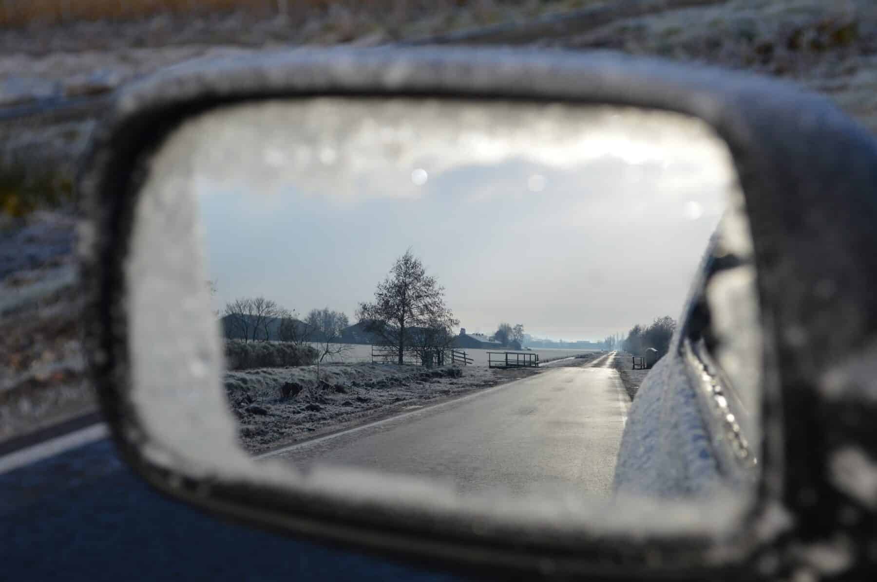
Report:
[[[485,540],[449,534],[421,515],[425,525],[415,534],[399,522],[303,507],[280,490],[213,483],[204,493],[196,479],[146,461],[126,398],[123,276],[145,178],[139,160],[203,110],[327,95],[609,103],[698,117],[724,138],[745,194],[766,340],[762,473],[738,532],[723,540]],[[296,50],[172,67],[132,85],[116,97],[93,144],[79,181],[87,212],[80,245],[86,353],[119,450],[160,491],[263,527],[495,575],[737,578],[805,567],[802,548],[838,536],[857,559],[877,543],[877,493],[863,497],[835,471],[838,451],[877,458],[874,380],[857,373],[856,358],[877,353],[877,143],[824,98],[759,77],[610,53]]]

